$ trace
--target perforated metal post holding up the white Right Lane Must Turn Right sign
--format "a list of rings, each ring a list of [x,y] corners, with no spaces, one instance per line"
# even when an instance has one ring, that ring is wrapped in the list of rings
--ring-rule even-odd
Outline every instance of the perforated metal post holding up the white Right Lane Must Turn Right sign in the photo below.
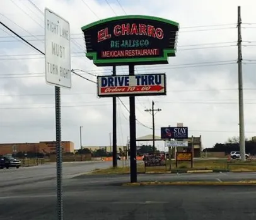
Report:
[[[55,86],[57,219],[63,219],[62,202],[62,148],[61,148],[61,88]]]

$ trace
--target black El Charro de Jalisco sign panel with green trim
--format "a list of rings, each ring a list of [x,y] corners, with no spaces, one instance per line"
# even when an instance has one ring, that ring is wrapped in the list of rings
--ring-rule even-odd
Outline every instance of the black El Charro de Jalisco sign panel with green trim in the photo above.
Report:
[[[175,57],[178,23],[152,16],[117,16],[83,26],[86,57],[97,66],[166,64]]]

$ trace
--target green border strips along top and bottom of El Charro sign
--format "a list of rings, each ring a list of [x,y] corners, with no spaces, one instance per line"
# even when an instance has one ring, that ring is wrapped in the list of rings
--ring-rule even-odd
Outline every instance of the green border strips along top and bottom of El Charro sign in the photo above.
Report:
[[[117,21],[117,20],[123,20],[123,19],[148,19],[153,21],[160,21],[161,23],[166,23],[169,25],[175,25],[177,28],[179,28],[179,24],[175,21],[171,21],[164,18],[158,18],[154,16],[145,16],[145,15],[127,15],[127,16],[116,16],[112,18],[102,19],[100,21],[96,21],[93,23],[90,23],[89,25],[85,25],[81,28],[82,31],[88,30],[90,28],[94,28],[95,26],[102,25],[104,23],[108,23],[110,21]],[[85,53],[86,57],[88,57],[90,60],[93,60],[93,63],[98,64],[110,64],[110,63],[145,63],[145,62],[165,62],[168,60],[168,57],[174,57],[176,50],[172,49],[163,49],[163,57],[143,57],[143,58],[112,58],[112,59],[98,59],[97,58],[97,52],[88,52]]]

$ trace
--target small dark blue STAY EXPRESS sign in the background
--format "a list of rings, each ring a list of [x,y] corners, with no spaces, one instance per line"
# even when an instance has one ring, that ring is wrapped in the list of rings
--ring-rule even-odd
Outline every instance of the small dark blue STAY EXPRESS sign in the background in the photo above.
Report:
[[[187,139],[188,136],[188,127],[161,128],[161,139]]]

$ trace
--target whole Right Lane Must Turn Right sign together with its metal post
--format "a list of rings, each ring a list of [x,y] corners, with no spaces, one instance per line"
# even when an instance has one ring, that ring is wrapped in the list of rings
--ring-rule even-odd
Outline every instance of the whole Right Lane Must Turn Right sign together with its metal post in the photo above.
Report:
[[[62,53],[57,48],[65,48]],[[63,220],[62,146],[61,146],[61,87],[71,88],[71,49],[69,22],[45,8],[45,80],[55,85],[56,126],[56,191],[57,219]],[[54,69],[55,72],[52,70]]]

